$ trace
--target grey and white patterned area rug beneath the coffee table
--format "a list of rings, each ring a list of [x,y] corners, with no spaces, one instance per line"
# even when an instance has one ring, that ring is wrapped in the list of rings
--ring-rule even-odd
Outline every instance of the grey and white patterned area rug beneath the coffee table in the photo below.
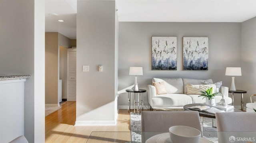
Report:
[[[215,119],[213,119],[213,123],[214,126],[216,126]],[[131,113],[130,125],[132,141],[136,143],[141,143],[141,114]],[[217,129],[216,127],[212,127],[212,118],[204,118],[203,135],[204,138],[214,143],[218,143]]]

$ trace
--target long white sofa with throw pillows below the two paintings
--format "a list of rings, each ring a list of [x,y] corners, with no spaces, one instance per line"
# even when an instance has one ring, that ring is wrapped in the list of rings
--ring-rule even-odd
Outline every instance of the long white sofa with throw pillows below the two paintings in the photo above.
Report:
[[[164,82],[167,94],[156,94],[156,87],[148,85],[148,102],[150,106],[156,109],[183,109],[186,104],[204,103],[205,98],[198,97],[198,94],[187,94],[187,84],[204,84],[205,81],[210,83],[212,79],[197,80],[189,78],[153,78],[152,82]],[[224,95],[227,104],[232,103],[232,98],[228,97],[228,87],[221,86],[220,92]],[[215,103],[220,102],[222,96],[215,96]]]

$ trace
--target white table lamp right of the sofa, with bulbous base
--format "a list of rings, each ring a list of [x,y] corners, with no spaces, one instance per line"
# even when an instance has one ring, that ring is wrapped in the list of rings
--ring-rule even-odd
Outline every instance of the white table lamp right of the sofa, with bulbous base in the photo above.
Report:
[[[240,67],[226,67],[226,74],[228,76],[232,76],[232,82],[230,86],[230,90],[236,91],[235,86],[235,77],[234,76],[242,76],[241,68]]]

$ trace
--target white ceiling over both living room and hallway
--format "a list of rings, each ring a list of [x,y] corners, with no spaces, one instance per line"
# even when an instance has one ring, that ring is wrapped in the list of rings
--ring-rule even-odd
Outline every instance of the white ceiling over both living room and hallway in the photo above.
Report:
[[[256,0],[116,0],[116,8],[119,22],[244,22],[256,16]],[[76,0],[45,0],[45,31],[76,39]]]

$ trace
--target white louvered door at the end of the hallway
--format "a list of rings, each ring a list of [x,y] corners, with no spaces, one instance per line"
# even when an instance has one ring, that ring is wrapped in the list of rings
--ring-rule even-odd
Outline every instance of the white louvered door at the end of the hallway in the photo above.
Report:
[[[67,101],[76,101],[76,48],[68,48]]]

